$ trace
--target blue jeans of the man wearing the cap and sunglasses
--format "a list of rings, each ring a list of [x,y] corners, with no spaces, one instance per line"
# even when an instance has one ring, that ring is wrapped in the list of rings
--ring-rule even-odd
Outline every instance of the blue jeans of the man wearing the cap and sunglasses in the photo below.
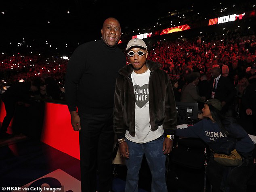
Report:
[[[147,143],[139,144],[126,139],[129,147],[129,159],[126,159],[127,176],[126,192],[138,191],[138,175],[141,169],[143,154],[147,159],[152,175],[151,192],[167,192],[166,155],[163,153],[164,135]]]

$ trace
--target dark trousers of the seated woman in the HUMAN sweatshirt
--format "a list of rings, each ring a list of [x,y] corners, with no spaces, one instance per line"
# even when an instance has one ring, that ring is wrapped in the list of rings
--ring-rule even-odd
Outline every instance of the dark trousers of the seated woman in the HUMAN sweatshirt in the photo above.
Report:
[[[206,171],[212,192],[246,192],[247,182],[254,172],[253,158],[245,159],[238,167],[225,167],[210,159]]]

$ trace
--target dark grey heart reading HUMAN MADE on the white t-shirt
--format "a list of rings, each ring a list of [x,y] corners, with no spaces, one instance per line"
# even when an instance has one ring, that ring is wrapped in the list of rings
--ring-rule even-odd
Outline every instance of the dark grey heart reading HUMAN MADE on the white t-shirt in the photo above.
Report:
[[[143,86],[134,85],[135,103],[139,108],[143,108],[149,102],[149,84]]]

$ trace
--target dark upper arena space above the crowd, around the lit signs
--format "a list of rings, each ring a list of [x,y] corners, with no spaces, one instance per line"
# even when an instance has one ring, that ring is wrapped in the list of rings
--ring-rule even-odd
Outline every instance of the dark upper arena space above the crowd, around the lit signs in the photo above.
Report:
[[[248,11],[248,7],[254,10],[253,3],[253,0],[243,3],[239,0],[0,0],[0,52],[39,51],[70,55],[78,44],[99,40],[103,22],[108,17],[120,21],[121,49],[125,48],[133,35],[172,27],[170,21],[175,21],[175,26],[188,24],[191,30],[162,35],[161,38],[178,39],[181,35],[196,37],[202,32],[215,31],[222,34],[224,24],[207,26],[209,19],[240,14]],[[221,12],[225,7],[227,10]],[[251,25],[250,30],[255,31],[255,17],[225,23],[225,27],[231,26],[230,30],[234,30],[237,25],[243,26],[244,21],[247,23],[245,30]],[[157,35],[147,43],[151,46],[149,41],[153,44],[159,39]],[[22,46],[18,46],[20,43]]]

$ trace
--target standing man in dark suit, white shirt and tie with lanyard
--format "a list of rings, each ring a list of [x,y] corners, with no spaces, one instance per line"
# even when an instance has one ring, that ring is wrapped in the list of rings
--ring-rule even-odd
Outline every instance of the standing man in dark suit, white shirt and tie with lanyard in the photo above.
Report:
[[[236,95],[235,87],[228,77],[223,77],[219,67],[212,68],[212,94],[211,98],[220,100],[222,113],[231,112],[233,100]]]

